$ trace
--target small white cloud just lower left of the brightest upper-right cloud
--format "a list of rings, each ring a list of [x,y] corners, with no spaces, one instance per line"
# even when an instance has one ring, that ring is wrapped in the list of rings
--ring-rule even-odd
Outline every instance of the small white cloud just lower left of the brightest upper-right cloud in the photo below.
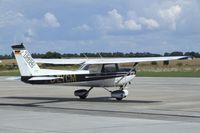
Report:
[[[154,19],[139,18],[139,22],[151,30],[160,26],[159,23]]]

